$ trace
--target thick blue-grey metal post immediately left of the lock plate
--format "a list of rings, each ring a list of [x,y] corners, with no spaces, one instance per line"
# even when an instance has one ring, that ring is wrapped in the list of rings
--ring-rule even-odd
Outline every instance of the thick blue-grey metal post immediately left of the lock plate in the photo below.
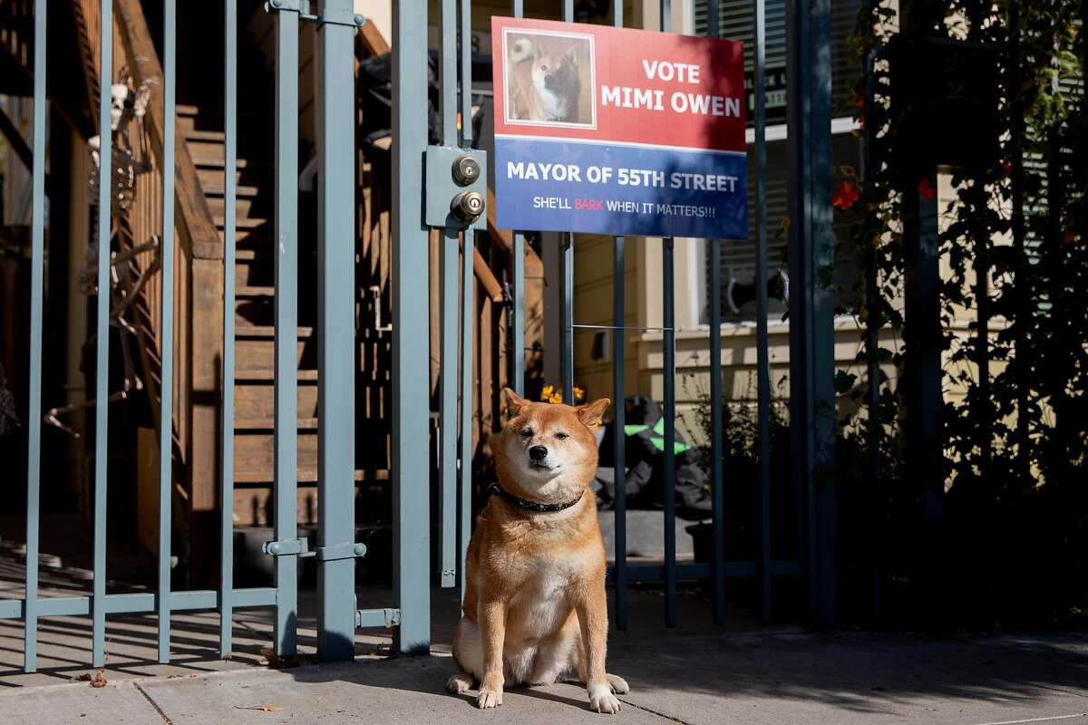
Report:
[[[448,0],[447,0],[448,1]],[[400,608],[396,647],[430,650],[428,303],[417,276],[428,268],[422,164],[428,140],[426,3],[393,8],[393,515],[394,588]]]

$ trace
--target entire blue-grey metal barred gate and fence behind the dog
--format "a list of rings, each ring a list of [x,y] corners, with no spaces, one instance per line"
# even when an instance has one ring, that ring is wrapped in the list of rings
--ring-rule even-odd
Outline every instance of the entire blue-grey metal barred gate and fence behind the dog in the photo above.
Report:
[[[221,499],[222,578],[218,590],[172,591],[171,552],[171,426],[160,426],[159,467],[159,554],[158,589],[148,593],[109,593],[106,587],[107,517],[106,492],[108,408],[97,405],[95,441],[94,508],[94,586],[89,596],[39,596],[39,462],[41,460],[41,336],[45,223],[45,104],[46,104],[46,0],[35,1],[34,25],[34,186],[33,186],[33,277],[30,311],[30,409],[29,474],[27,480],[26,590],[23,599],[0,601],[0,617],[22,618],[25,623],[24,668],[33,672],[37,661],[39,620],[50,616],[85,615],[91,617],[91,664],[102,665],[106,658],[106,621],[110,614],[154,613],[158,616],[158,658],[170,661],[171,614],[177,611],[215,610],[221,616],[220,653],[231,651],[231,616],[235,609],[271,608],[275,612],[274,645],[277,654],[294,654],[297,647],[298,559],[313,557],[318,562],[318,650],[323,660],[346,660],[354,655],[355,633],[359,627],[394,627],[396,648],[404,653],[426,652],[430,647],[430,583],[432,561],[429,535],[430,471],[420,454],[429,439],[430,400],[425,382],[428,370],[429,309],[426,295],[412,276],[428,267],[429,229],[443,230],[441,245],[441,562],[435,567],[443,586],[463,586],[463,561],[472,514],[472,320],[474,280],[472,251],[475,229],[481,226],[486,188],[486,160],[473,151],[472,141],[472,59],[469,34],[471,2],[440,2],[440,137],[438,146],[429,147],[428,97],[428,4],[425,0],[397,0],[393,14],[393,451],[392,468],[394,521],[395,609],[358,610],[355,598],[355,558],[364,547],[355,541],[355,411],[354,411],[354,330],[355,320],[355,170],[345,159],[356,146],[356,107],[354,36],[364,18],[355,14],[351,0],[321,0],[317,14],[310,14],[307,0],[269,0],[275,13],[275,483],[274,540],[265,553],[275,559],[275,586],[234,588],[233,585],[233,402],[234,402],[234,320],[224,314],[223,425],[221,473],[224,482]],[[613,22],[621,26],[621,0],[611,5]],[[113,23],[112,0],[101,3],[101,78],[112,77]],[[522,0],[514,0],[515,16],[523,12]],[[662,0],[662,17],[668,30],[670,0]],[[673,354],[673,275],[672,239],[663,240],[665,289],[665,562],[663,565],[627,563],[623,497],[616,505],[616,565],[609,576],[616,587],[616,624],[628,623],[627,590],[636,582],[662,582],[666,591],[665,621],[677,623],[677,583],[681,578],[713,580],[714,618],[725,618],[725,591],[729,577],[755,576],[761,582],[764,617],[770,616],[770,582],[777,575],[807,573],[809,605],[817,624],[833,623],[834,571],[833,537],[826,532],[833,526],[833,487],[821,483],[817,467],[827,465],[833,443],[829,439],[827,410],[833,411],[830,382],[830,301],[818,291],[818,272],[830,253],[829,179],[814,174],[828,165],[830,66],[826,47],[829,37],[829,0],[801,3],[792,10],[793,50],[791,57],[802,68],[791,86],[791,138],[794,147],[793,188],[795,222],[793,246],[794,274],[800,292],[791,329],[795,484],[799,501],[804,500],[805,516],[799,516],[798,536],[804,539],[801,550],[807,560],[772,561],[770,554],[770,497],[768,401],[769,368],[767,354],[767,290],[758,285],[758,405],[759,405],[759,521],[761,547],[755,561],[725,561],[725,520],[722,508],[721,410],[714,411],[712,479],[714,490],[714,558],[709,564],[678,564],[676,557],[673,503],[675,373]],[[225,154],[224,211],[225,253],[224,310],[235,301],[235,157],[238,138],[236,123],[236,2],[225,3]],[[562,17],[573,20],[573,0],[562,0]],[[163,139],[164,168],[174,167],[174,88],[176,83],[175,47],[176,0],[163,0]],[[757,278],[767,271],[766,233],[766,150],[764,142],[764,0],[754,0],[755,18],[755,152],[757,159]],[[296,526],[296,340],[298,272],[298,27],[300,22],[319,24],[319,536],[316,550],[307,539],[298,538]],[[710,3],[709,27],[717,34],[717,5]],[[110,178],[110,92],[100,84],[99,134],[101,139],[100,178]],[[463,123],[458,124],[460,114]],[[453,171],[450,171],[453,170]],[[162,329],[172,339],[174,320],[174,193],[173,174],[164,174],[162,205]],[[111,186],[99,185],[99,209],[110,209]],[[98,218],[98,288],[109,288],[110,214]],[[524,261],[523,235],[515,235],[511,315],[512,387],[523,393],[524,380]],[[560,284],[562,309],[562,389],[570,402],[573,391],[573,243],[566,235],[561,254]],[[719,242],[709,240],[710,299],[720,299]],[[614,239],[614,316],[611,329],[622,332],[625,240]],[[460,313],[460,314],[459,314]],[[108,397],[109,305],[98,304],[96,398]],[[615,470],[622,475],[623,461],[623,336],[613,336],[614,399],[616,429]],[[710,305],[712,400],[720,399],[720,310]],[[173,376],[173,350],[162,350],[162,379]],[[818,384],[817,384],[818,383]],[[800,391],[800,395],[799,395]],[[829,405],[830,403],[830,405]],[[160,416],[169,421],[173,400],[171,386],[162,386]],[[458,408],[458,405],[460,405]],[[799,507],[799,510],[801,507]],[[829,518],[830,517],[830,518]],[[801,521],[803,518],[803,521]],[[830,522],[825,524],[824,522]]]

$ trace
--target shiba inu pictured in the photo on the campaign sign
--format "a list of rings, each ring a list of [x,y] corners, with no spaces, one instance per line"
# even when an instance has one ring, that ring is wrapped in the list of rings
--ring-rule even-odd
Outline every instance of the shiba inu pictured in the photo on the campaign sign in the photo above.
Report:
[[[582,77],[578,49],[545,48],[545,38],[514,41],[509,57],[514,117],[522,121],[579,123]],[[551,52],[551,51],[556,52]]]

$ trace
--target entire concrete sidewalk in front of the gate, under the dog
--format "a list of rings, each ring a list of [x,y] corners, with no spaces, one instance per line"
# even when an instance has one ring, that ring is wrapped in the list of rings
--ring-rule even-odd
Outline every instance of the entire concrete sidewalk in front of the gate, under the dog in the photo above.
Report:
[[[12,688],[0,692],[0,723],[1088,724],[1088,637],[1075,634],[929,641],[618,633],[609,670],[632,687],[613,720],[589,712],[584,690],[572,685],[509,691],[497,710],[478,711],[474,692],[444,691],[454,665],[437,652],[119,679],[102,688],[86,682]]]

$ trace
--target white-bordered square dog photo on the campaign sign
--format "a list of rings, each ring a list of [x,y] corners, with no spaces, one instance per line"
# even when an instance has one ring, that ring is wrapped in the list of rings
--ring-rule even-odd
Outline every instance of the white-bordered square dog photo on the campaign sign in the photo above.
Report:
[[[506,122],[596,127],[593,38],[504,30]]]

